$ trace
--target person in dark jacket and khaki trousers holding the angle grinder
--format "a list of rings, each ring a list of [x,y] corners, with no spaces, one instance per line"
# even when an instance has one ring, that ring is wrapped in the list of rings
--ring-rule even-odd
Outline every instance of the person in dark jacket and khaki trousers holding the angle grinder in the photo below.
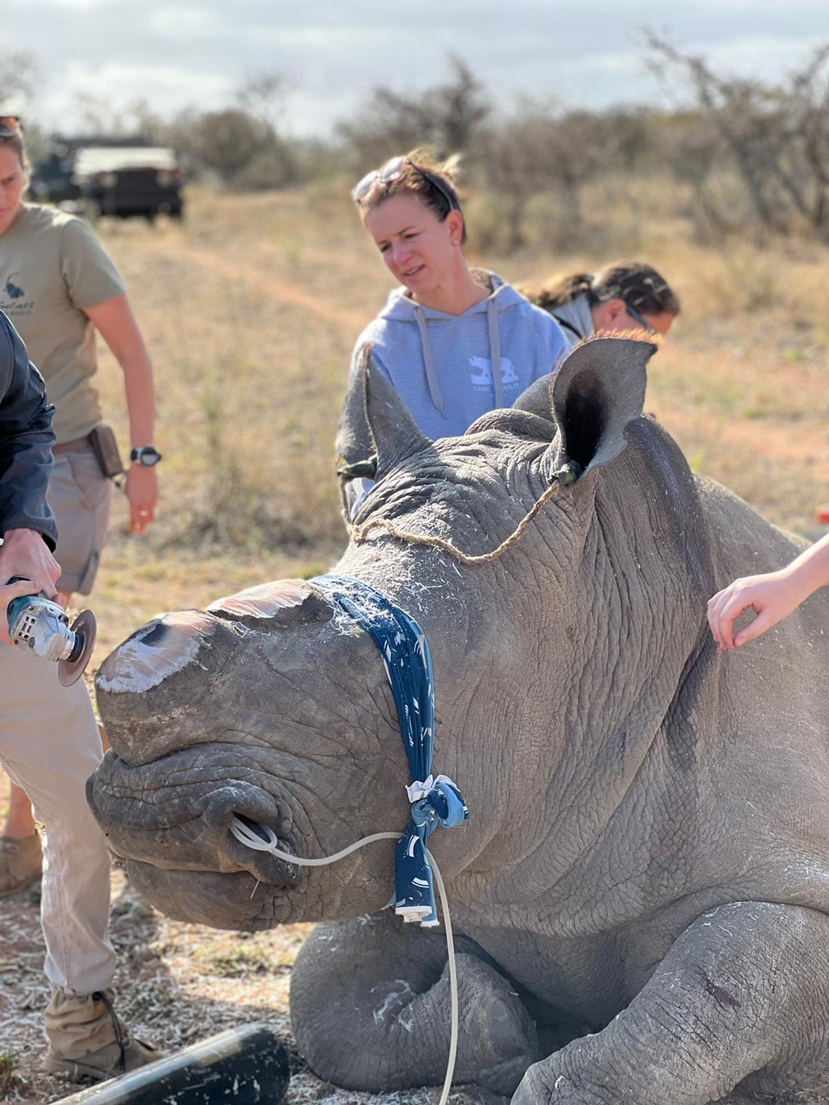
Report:
[[[52,991],[44,1066],[73,1081],[102,1081],[159,1052],[132,1039],[113,1009],[109,855],[86,804],[101,738],[80,669],[63,685],[59,664],[15,648],[8,631],[11,602],[56,594],[57,528],[46,502],[53,442],[43,378],[0,312],[0,580],[20,577],[0,587],[0,764],[46,828],[41,919]]]

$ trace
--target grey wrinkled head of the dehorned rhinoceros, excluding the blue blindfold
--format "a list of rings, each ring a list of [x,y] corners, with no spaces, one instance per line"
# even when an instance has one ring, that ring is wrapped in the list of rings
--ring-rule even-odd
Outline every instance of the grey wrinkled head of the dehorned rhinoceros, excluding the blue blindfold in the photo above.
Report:
[[[600,665],[612,666],[618,650],[597,627],[618,611],[612,596],[602,599],[597,481],[631,452],[626,442],[644,422],[651,351],[590,341],[526,392],[523,409],[491,412],[464,436],[438,442],[381,377],[367,368],[360,381],[377,483],[335,570],[385,592],[430,640],[434,770],[455,780],[471,811],[430,846],[458,894],[464,880],[471,895],[483,893],[493,871],[537,845],[550,780],[581,732],[579,709],[587,725],[612,726],[658,664],[671,662],[657,634],[659,655],[634,685],[599,693]],[[679,456],[652,423],[640,427],[640,436],[654,433],[654,455]],[[439,538],[472,556],[496,548],[568,461],[584,475],[503,555],[470,565],[434,546]],[[671,461],[678,496],[688,473],[680,462]],[[668,461],[663,469],[673,471]],[[664,502],[664,476],[653,478]],[[607,520],[618,494],[606,482]],[[648,529],[637,549],[647,571],[654,543],[659,559],[676,539],[652,503],[632,504],[626,524]],[[630,534],[620,536],[628,549]],[[634,580],[628,600],[639,601]],[[265,583],[203,612],[156,619],[104,662],[97,693],[114,750],[91,780],[90,801],[161,909],[251,929],[359,916],[388,902],[390,842],[308,870],[250,851],[229,832],[240,815],[272,827],[285,851],[316,857],[408,821],[408,767],[380,656],[313,580]]]

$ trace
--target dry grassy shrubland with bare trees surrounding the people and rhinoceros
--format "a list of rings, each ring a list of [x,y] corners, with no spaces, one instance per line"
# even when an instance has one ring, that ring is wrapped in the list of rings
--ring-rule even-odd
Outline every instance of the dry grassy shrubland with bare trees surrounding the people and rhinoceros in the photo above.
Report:
[[[731,82],[663,43],[651,56],[673,82],[675,110],[525,101],[496,113],[459,60],[414,102],[377,90],[326,144],[287,137],[290,99],[273,74],[223,113],[161,120],[140,105],[117,119],[92,98],[78,107],[91,131],[172,143],[190,175],[182,224],[97,225],[155,361],[164,462],[144,537],[127,534],[116,496],[91,600],[93,667],[160,610],[314,575],[344,547],[336,422],[354,341],[390,287],[348,190],[418,145],[463,155],[471,262],[517,283],[620,257],[663,272],[683,312],[651,362],[648,410],[695,471],[816,535],[829,502],[826,55],[780,88]],[[25,76],[20,63],[3,70],[0,59],[0,87],[3,72]],[[36,152],[43,136],[28,133]],[[126,446],[120,372],[106,349],[98,383]],[[139,1030],[165,1046],[240,1020],[287,1032],[302,928],[217,934],[115,890],[122,1008]],[[53,1099],[69,1087],[29,1073],[44,985],[36,908],[8,899],[0,919],[12,940],[0,975],[13,960],[7,992],[18,1002],[10,1099]],[[303,1077],[295,1101],[324,1094]]]

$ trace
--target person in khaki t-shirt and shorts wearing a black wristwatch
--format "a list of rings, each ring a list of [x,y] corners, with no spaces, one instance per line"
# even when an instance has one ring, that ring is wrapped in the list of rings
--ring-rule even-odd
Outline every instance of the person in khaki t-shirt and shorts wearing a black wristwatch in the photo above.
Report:
[[[113,490],[88,440],[103,421],[94,382],[95,330],[124,370],[133,456],[144,462],[133,463],[126,478],[135,534],[153,522],[158,495],[155,467],[147,463],[158,459],[151,448],[153,367],[115,265],[80,219],[23,202],[28,170],[20,128],[6,117],[0,126],[0,311],[23,338],[55,408],[48,497],[59,530],[59,601],[66,606],[74,591],[92,590]],[[22,890],[40,872],[31,803],[13,787],[0,836],[0,896]]]

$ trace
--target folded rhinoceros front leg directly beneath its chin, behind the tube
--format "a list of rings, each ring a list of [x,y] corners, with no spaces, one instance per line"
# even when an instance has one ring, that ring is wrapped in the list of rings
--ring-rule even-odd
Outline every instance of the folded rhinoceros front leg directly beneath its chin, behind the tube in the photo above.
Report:
[[[512,1094],[538,1050],[535,1025],[476,945],[455,938],[460,1031],[454,1081]],[[317,925],[291,977],[300,1051],[321,1077],[382,1092],[442,1083],[450,989],[442,929],[384,913]]]

